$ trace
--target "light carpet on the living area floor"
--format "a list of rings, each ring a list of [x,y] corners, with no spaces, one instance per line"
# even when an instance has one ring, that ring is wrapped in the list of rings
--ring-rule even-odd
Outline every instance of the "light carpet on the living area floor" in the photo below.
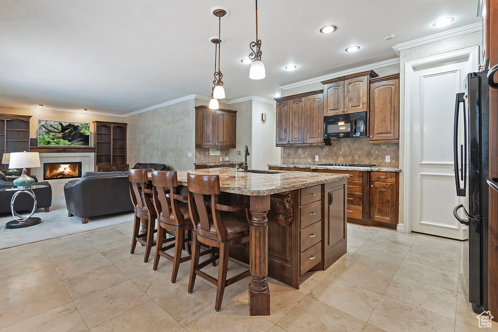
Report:
[[[27,213],[23,212],[21,215],[25,216]],[[133,221],[133,211],[93,217],[83,224],[81,218],[67,216],[64,193],[60,193],[53,195],[50,212],[37,209],[33,217],[41,218],[41,223],[31,227],[6,229],[5,223],[14,218],[11,214],[0,214],[0,249]]]

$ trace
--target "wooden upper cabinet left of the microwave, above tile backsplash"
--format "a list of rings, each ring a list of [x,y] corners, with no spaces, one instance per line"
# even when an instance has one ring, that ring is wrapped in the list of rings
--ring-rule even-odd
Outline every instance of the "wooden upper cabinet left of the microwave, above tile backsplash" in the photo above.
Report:
[[[330,145],[323,138],[323,91],[275,99],[276,146]]]

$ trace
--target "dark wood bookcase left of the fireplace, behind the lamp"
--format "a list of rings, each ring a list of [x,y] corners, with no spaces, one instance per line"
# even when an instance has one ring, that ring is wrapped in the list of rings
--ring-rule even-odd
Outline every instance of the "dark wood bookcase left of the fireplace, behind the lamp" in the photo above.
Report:
[[[31,115],[0,114],[0,161],[4,153],[29,151]],[[8,170],[0,164],[0,171]]]

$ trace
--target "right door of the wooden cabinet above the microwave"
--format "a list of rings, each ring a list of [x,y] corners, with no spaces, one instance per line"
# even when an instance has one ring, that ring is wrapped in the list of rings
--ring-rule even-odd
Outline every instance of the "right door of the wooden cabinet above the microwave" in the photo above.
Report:
[[[344,82],[344,112],[369,111],[369,77],[355,77]]]

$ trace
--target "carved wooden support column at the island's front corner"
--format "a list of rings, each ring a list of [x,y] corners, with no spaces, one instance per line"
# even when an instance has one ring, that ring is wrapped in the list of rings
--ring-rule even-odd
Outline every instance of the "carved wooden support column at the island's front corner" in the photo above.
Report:
[[[251,196],[249,205],[249,312],[251,316],[270,314],[268,288],[268,218],[270,196]]]

